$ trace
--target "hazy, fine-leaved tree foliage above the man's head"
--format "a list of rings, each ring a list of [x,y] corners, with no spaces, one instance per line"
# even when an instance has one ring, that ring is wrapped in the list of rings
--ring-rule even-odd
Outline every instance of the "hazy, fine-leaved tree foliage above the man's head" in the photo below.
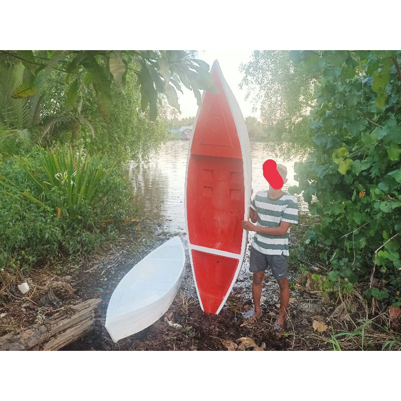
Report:
[[[271,154],[290,159],[310,151],[309,111],[315,105],[314,86],[319,73],[301,73],[288,51],[254,51],[241,88],[247,87],[254,105],[261,102],[263,140]]]

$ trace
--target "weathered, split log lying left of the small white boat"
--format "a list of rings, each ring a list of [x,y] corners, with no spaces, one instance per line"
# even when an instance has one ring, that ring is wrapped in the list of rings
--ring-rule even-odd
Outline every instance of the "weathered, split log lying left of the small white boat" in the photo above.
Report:
[[[89,299],[69,307],[71,313],[56,312],[38,327],[29,328],[19,334],[9,333],[0,337],[0,350],[57,351],[82,337],[94,328],[95,308],[101,299]]]

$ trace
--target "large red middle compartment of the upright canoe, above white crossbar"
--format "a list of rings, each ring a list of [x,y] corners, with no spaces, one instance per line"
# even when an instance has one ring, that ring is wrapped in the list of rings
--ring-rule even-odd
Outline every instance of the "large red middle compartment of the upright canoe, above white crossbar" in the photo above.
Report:
[[[245,191],[242,160],[191,156],[186,190],[190,243],[240,254]]]

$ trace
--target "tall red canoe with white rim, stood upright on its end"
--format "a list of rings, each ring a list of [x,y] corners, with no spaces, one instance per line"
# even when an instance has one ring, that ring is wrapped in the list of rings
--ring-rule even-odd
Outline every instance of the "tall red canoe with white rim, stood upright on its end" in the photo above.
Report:
[[[240,107],[216,60],[218,94],[204,92],[189,144],[185,223],[200,306],[218,314],[240,272],[251,197],[251,146]]]

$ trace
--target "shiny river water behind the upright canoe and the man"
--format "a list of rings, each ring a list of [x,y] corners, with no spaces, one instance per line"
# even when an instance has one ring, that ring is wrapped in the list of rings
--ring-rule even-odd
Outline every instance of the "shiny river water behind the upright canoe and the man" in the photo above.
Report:
[[[185,231],[184,185],[186,158],[189,141],[169,140],[149,162],[132,163],[129,178],[136,192],[141,218],[158,222],[163,230],[171,232]],[[252,153],[252,188],[254,193],[268,189],[269,185],[263,176],[262,165],[271,158],[263,149],[263,143],[251,143]],[[288,171],[288,181],[284,190],[296,185],[294,180],[294,162],[284,162]],[[302,211],[307,211],[307,204],[298,197]]]

